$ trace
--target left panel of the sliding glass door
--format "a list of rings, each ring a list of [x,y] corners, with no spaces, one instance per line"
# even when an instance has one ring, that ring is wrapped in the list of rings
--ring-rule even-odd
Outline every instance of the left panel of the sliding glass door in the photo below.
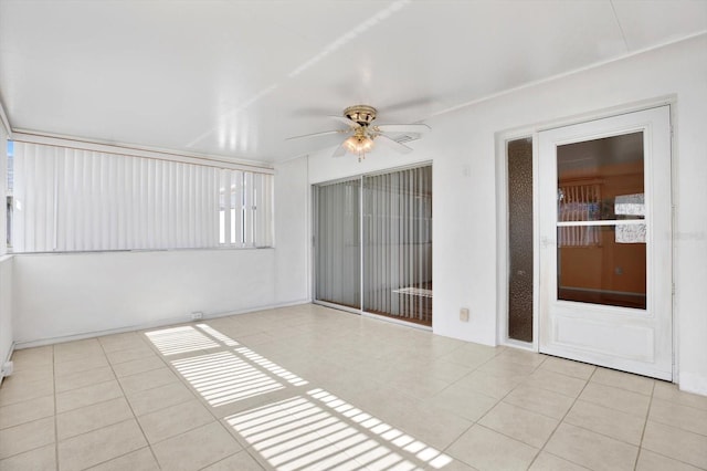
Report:
[[[360,308],[360,179],[315,187],[316,299]]]

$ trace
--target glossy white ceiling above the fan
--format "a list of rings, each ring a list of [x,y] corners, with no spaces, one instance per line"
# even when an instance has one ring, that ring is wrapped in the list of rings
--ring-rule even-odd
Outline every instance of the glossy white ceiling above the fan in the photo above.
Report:
[[[278,161],[707,31],[707,0],[0,0],[13,129]],[[339,139],[339,136],[334,136]]]

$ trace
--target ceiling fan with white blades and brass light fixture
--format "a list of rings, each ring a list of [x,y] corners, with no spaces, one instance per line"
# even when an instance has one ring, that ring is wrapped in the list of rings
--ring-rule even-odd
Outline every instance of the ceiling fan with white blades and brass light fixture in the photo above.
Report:
[[[380,143],[401,154],[411,153],[411,147],[395,140],[395,138],[390,135],[413,135],[413,137],[419,137],[419,135],[430,130],[430,126],[426,124],[372,124],[377,114],[378,111],[369,105],[349,106],[344,109],[342,116],[329,116],[333,119],[346,124],[348,129],[306,134],[304,136],[291,137],[287,140],[345,134],[348,137],[336,148],[333,157],[342,157],[348,151],[357,155],[358,161],[361,161],[361,159],[366,158],[366,154],[372,150],[374,143]]]

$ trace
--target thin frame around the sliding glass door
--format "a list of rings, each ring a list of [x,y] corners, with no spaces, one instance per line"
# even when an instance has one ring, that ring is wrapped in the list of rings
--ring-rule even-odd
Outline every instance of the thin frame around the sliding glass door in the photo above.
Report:
[[[405,166],[400,166],[400,167],[392,167],[392,168],[386,168],[386,169],[381,169],[381,170],[377,170],[377,171],[371,171],[371,172],[366,172],[366,174],[357,174],[357,175],[352,175],[349,177],[342,177],[342,178],[337,178],[334,180],[326,180],[326,181],[320,181],[317,184],[312,184],[312,191],[310,191],[310,196],[312,196],[312,302],[314,304],[319,304],[326,307],[331,307],[335,310],[339,310],[339,311],[345,311],[351,314],[358,314],[361,315],[363,317],[370,317],[370,318],[377,318],[380,321],[386,321],[389,323],[393,323],[393,324],[400,324],[400,325],[404,325],[408,327],[415,327],[415,328],[420,328],[423,331],[430,331],[432,332],[432,326],[426,326],[426,325],[421,325],[421,324],[416,324],[413,322],[407,322],[403,320],[397,320],[393,317],[389,317],[389,316],[384,316],[384,315],[379,315],[379,314],[374,314],[374,313],[369,313],[367,312],[363,306],[366,305],[366,293],[363,291],[365,289],[365,271],[366,271],[366,263],[365,263],[365,243],[363,243],[363,236],[365,236],[365,227],[363,227],[363,222],[365,222],[365,213],[363,213],[363,187],[365,187],[365,178],[366,177],[376,177],[379,175],[387,175],[387,174],[392,174],[395,171],[402,171],[402,170],[411,170],[411,169],[415,169],[415,168],[423,168],[423,167],[430,167],[430,171],[432,172],[432,175],[434,175],[434,166],[432,164],[432,160],[424,160],[424,161],[419,161],[419,163],[414,163],[411,165],[405,165]],[[337,184],[340,181],[351,181],[358,179],[359,180],[359,185],[360,185],[360,191],[359,191],[359,245],[360,245],[360,273],[359,273],[359,289],[360,289],[360,308],[355,308],[355,307],[350,307],[350,306],[345,306],[341,304],[336,304],[336,303],[331,303],[331,302],[327,302],[327,301],[320,301],[317,300],[317,262],[318,262],[318,253],[317,253],[317,230],[318,230],[318,224],[319,224],[319,211],[318,211],[318,195],[317,195],[317,188],[318,187],[323,187],[323,186],[327,186],[327,185],[333,185],[333,184]],[[434,189],[433,189],[434,191]],[[433,231],[434,233],[434,231]],[[434,239],[433,239],[433,243],[434,243]],[[434,247],[433,247],[433,251],[432,253],[434,254]],[[434,257],[434,255],[433,255]],[[434,322],[434,317],[432,318],[432,322]]]

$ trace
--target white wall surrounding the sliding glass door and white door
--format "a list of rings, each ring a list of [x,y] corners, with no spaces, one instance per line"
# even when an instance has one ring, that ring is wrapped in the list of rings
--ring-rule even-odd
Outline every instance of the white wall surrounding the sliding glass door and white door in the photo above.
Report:
[[[412,156],[309,157],[309,182],[433,161],[434,332],[497,341],[496,134],[676,97],[675,326],[680,387],[707,394],[707,35],[536,84],[430,119]],[[304,214],[304,212],[303,212]],[[471,308],[471,322],[458,310]]]

